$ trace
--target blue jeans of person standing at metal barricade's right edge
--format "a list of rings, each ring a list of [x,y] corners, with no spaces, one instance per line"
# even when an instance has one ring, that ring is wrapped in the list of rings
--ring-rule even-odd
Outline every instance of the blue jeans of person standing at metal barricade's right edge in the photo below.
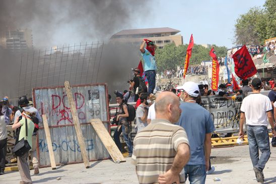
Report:
[[[130,134],[128,134],[128,135],[125,134],[124,126],[123,125],[122,125],[122,127],[120,128],[119,131],[117,129],[115,130],[114,135],[113,135],[114,142],[117,145],[117,147],[119,148],[119,150],[122,152],[122,145],[121,145],[121,142],[120,142],[120,134],[122,132],[123,132],[123,139],[124,139],[125,144],[126,144],[126,146],[128,148],[128,154],[132,155],[133,146],[132,146],[130,138],[128,137],[128,135],[130,135]]]

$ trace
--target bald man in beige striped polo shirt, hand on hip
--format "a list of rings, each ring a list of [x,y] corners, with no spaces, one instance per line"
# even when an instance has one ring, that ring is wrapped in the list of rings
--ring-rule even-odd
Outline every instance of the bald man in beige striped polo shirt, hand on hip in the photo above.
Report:
[[[185,130],[173,125],[181,114],[179,105],[174,93],[160,93],[156,119],[134,138],[132,164],[140,183],[185,183],[183,167],[190,148]]]

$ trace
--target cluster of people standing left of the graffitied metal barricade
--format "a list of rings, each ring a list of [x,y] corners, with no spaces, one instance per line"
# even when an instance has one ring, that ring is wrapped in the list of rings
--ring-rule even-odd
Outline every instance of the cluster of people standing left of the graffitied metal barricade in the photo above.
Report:
[[[42,118],[38,110],[33,107],[32,98],[22,96],[18,100],[18,106],[9,103],[9,98],[4,97],[0,102],[0,174],[4,174],[7,154],[7,125],[12,125],[16,131],[15,145],[21,140],[27,140],[30,146],[30,155],[33,163],[34,174],[39,173],[38,159],[36,152],[36,140],[38,125],[41,125]],[[29,151],[17,154],[18,169],[22,184],[32,183],[29,169]]]

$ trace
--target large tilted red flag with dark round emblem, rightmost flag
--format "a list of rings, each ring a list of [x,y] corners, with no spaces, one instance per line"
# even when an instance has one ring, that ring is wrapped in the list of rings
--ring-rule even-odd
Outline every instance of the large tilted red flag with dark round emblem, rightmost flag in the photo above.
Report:
[[[255,64],[245,45],[233,54],[233,59],[235,63],[235,73],[239,78],[245,80],[257,73]]]

